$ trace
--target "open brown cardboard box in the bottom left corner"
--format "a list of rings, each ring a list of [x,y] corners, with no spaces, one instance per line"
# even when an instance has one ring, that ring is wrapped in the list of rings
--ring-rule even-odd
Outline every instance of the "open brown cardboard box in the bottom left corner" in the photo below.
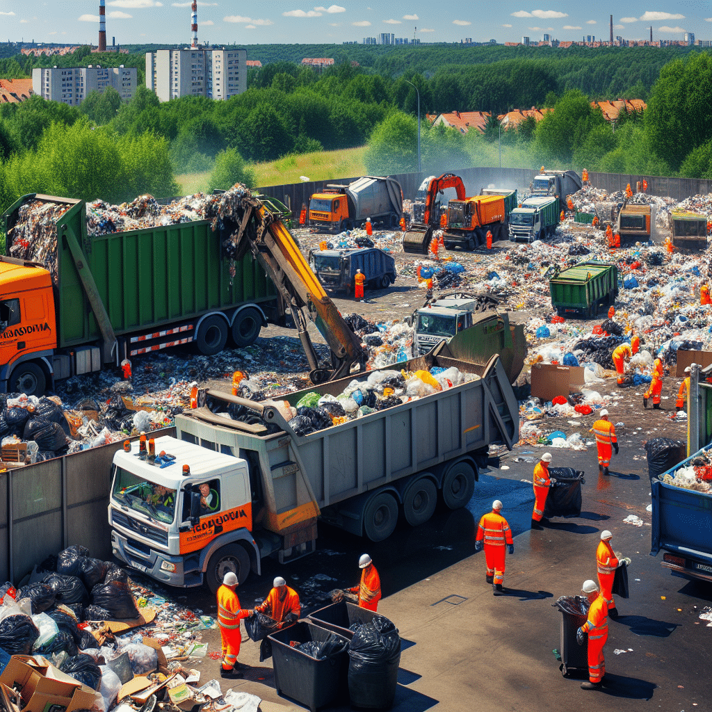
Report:
[[[91,709],[98,695],[39,655],[12,656],[0,674],[0,683],[10,688],[20,686],[23,712],[46,712],[52,705],[66,712]]]

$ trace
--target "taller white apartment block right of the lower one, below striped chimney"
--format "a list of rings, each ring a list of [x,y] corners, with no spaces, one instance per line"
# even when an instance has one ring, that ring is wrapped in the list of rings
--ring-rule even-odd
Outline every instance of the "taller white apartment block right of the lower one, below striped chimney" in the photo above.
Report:
[[[159,100],[229,99],[247,89],[244,49],[159,49],[146,53],[146,86]]]

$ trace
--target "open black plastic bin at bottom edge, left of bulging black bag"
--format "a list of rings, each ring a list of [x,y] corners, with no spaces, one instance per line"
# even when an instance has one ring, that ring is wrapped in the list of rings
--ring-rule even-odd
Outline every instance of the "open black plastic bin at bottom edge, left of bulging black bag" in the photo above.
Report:
[[[306,643],[324,641],[332,631],[308,621],[300,621],[284,630],[271,634],[272,666],[277,694],[292,698],[312,712],[328,705],[348,689],[348,645],[335,656],[317,660],[290,646],[291,641]],[[348,641],[344,640],[346,644]]]

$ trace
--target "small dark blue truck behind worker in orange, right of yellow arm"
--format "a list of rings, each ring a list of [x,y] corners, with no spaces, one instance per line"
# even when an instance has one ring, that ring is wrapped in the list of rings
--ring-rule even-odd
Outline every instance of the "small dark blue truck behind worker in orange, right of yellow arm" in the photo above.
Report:
[[[325,289],[350,292],[360,269],[371,289],[386,289],[396,281],[396,261],[377,247],[312,250],[309,264]]]

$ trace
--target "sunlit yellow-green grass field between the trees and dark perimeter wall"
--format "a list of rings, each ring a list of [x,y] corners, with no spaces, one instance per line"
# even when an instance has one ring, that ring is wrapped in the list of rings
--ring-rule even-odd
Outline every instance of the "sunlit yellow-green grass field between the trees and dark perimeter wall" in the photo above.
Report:
[[[364,175],[363,157],[366,147],[346,148],[340,151],[320,151],[287,156],[269,163],[251,163],[258,187],[298,183],[302,176],[310,180],[329,180]],[[176,177],[183,195],[204,191],[210,172],[184,173]],[[226,186],[229,187],[229,186]]]

